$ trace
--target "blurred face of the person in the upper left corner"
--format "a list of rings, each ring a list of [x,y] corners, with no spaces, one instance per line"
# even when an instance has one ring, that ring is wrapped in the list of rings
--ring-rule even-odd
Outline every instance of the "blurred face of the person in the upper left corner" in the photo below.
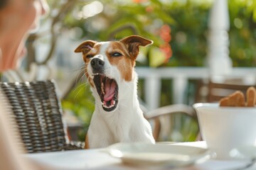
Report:
[[[28,33],[39,28],[40,16],[48,11],[46,0],[1,0],[0,72],[17,69],[26,55]]]

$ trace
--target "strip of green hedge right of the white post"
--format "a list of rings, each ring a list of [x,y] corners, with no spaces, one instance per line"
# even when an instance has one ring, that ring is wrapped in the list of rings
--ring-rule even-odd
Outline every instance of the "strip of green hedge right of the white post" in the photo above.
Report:
[[[256,65],[256,3],[255,1],[229,1],[230,57],[234,67]]]

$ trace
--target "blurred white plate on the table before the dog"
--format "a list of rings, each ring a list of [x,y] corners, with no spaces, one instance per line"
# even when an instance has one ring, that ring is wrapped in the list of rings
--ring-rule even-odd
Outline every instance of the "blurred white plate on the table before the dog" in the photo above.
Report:
[[[137,165],[185,166],[209,159],[211,152],[201,147],[181,145],[148,144],[148,143],[117,143],[108,147],[112,157],[122,162]]]

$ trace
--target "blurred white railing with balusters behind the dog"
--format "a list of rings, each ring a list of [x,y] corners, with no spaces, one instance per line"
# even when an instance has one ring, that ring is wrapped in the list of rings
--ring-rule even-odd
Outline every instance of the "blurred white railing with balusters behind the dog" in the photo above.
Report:
[[[220,68],[221,69],[221,68]],[[171,79],[173,82],[172,98],[174,103],[184,103],[184,92],[189,79],[210,79],[209,69],[206,67],[165,67],[150,68],[137,67],[139,79],[144,79],[145,102],[149,109],[159,107],[161,94],[161,79]],[[255,84],[256,67],[234,67],[226,77],[240,78],[245,84]]]

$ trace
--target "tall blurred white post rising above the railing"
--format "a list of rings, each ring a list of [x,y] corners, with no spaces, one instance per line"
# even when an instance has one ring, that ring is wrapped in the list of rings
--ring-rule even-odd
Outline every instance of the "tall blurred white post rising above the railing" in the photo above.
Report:
[[[230,74],[233,64],[228,49],[230,20],[227,0],[213,2],[209,20],[208,67],[210,74],[214,76]]]

